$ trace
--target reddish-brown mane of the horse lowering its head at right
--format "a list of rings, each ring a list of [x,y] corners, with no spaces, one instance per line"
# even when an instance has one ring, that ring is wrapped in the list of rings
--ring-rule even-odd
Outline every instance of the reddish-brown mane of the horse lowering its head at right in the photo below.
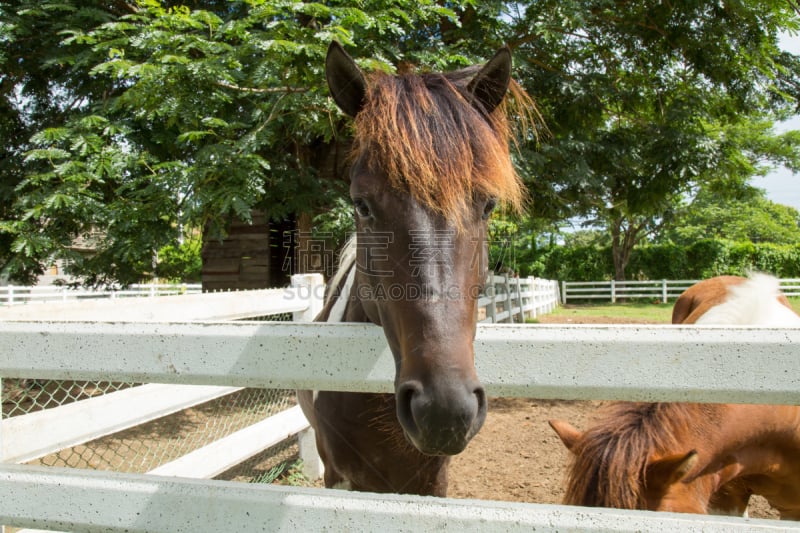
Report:
[[[716,419],[713,404],[615,402],[607,406],[602,421],[572,449],[564,503],[645,509],[649,459],[676,452],[677,436],[698,430],[689,423],[698,419],[698,410],[708,421]]]

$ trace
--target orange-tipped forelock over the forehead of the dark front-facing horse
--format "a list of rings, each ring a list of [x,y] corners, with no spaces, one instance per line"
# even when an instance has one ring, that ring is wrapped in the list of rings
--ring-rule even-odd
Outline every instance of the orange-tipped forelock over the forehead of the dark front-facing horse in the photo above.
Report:
[[[392,187],[408,191],[456,227],[475,198],[496,198],[514,210],[525,199],[509,154],[509,97],[484,112],[466,89],[477,72],[373,72],[355,118],[353,156],[365,158],[370,169],[387,174]],[[538,116],[513,80],[510,94],[518,116]]]

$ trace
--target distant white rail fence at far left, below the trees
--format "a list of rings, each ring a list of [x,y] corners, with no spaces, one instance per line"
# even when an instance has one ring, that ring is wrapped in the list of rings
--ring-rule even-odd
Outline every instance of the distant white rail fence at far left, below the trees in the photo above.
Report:
[[[68,302],[101,298],[169,296],[201,292],[199,283],[135,284],[124,289],[85,289],[57,285],[0,285],[0,306],[44,302]]]

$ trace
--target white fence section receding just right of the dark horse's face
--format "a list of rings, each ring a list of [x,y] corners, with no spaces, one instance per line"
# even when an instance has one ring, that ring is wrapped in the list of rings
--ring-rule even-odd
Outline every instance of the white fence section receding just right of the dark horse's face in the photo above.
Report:
[[[490,274],[484,294],[478,298],[478,321],[522,324],[553,311],[558,302],[557,281]]]

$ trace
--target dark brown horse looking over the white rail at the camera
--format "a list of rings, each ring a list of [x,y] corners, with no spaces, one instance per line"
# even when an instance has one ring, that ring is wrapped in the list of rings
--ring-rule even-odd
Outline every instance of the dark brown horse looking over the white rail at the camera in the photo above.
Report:
[[[444,496],[450,456],[483,424],[473,340],[487,219],[523,201],[510,72],[507,48],[482,67],[400,76],[365,76],[340,45],[328,50],[329,88],[355,118],[356,236],[317,320],[382,327],[396,363],[393,395],[300,392],[328,487]]]

